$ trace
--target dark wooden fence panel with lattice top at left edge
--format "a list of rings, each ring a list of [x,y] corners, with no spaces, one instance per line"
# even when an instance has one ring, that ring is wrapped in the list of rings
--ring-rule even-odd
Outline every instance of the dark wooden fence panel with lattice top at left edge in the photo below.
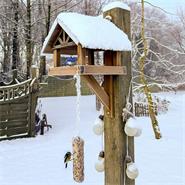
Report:
[[[0,87],[0,140],[35,135],[38,83]]]

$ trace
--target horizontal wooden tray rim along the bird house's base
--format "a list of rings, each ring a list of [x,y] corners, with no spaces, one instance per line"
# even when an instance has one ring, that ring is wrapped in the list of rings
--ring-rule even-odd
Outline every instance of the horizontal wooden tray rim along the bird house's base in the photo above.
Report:
[[[126,75],[124,66],[75,65],[50,68],[51,76],[80,75]]]

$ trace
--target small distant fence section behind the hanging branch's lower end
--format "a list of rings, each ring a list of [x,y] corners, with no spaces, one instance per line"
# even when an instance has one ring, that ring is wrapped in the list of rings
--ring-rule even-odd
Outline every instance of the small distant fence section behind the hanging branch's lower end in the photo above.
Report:
[[[153,105],[154,112],[157,115],[157,104],[154,103]],[[135,116],[136,117],[142,117],[142,116],[149,116],[149,110],[148,105],[144,103],[134,103],[134,110],[135,110]]]

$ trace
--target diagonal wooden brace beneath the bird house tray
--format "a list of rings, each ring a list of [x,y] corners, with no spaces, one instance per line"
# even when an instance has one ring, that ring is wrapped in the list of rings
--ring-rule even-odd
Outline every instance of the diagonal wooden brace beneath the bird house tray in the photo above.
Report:
[[[92,75],[81,76],[87,82],[89,88],[96,94],[102,104],[109,110],[109,96]]]

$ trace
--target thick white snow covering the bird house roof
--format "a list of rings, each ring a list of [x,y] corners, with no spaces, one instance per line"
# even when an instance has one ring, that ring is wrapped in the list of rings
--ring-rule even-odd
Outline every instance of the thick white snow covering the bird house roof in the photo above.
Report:
[[[44,41],[42,53],[47,53],[45,48],[49,44],[57,25],[62,27],[76,45],[81,44],[83,48],[114,51],[131,50],[131,42],[127,35],[110,21],[98,16],[60,13]]]

